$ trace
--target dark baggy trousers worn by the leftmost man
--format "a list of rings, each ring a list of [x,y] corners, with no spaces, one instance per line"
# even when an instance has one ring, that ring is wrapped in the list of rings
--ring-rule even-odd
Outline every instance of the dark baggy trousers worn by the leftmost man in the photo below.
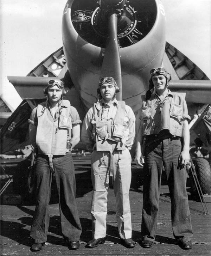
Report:
[[[52,162],[59,196],[63,237],[67,242],[79,240],[82,228],[75,200],[76,183],[72,155],[67,153],[65,156],[53,157]],[[48,157],[38,155],[35,170],[36,208],[30,232],[35,243],[43,243],[47,240],[52,177]]]

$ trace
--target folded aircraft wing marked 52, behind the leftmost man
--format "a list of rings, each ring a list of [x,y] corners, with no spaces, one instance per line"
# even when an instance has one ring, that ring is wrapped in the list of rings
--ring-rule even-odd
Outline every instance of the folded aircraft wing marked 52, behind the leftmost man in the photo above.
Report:
[[[1,129],[1,154],[24,149],[30,144],[27,120],[30,118],[32,109],[45,101],[43,89],[51,79],[58,77],[64,81],[65,89],[68,90],[65,98],[70,100],[83,121],[87,109],[84,108],[79,93],[72,84],[65,63],[63,49],[59,48],[26,77],[8,77],[23,101]],[[81,146],[83,145],[78,145],[78,147]]]

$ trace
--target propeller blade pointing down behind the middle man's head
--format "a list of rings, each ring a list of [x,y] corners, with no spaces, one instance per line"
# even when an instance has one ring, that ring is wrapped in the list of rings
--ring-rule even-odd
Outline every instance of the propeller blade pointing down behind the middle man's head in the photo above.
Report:
[[[120,87],[120,92],[116,98],[122,100],[122,76],[119,47],[117,41],[117,14],[113,13],[109,17],[108,22],[108,38],[106,42],[106,50],[101,68],[100,77],[113,77]]]

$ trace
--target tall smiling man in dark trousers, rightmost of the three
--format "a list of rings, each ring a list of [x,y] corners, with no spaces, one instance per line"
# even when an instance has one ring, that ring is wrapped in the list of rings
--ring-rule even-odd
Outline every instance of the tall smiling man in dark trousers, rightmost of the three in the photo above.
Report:
[[[191,249],[193,236],[188,197],[186,167],[189,163],[190,116],[185,93],[168,89],[171,75],[163,67],[150,71],[149,90],[143,96],[135,161],[143,166],[142,246],[155,240],[158,220],[162,167],[165,167],[171,197],[172,229],[183,249]],[[144,148],[144,149],[143,149]],[[140,159],[145,156],[144,165]]]

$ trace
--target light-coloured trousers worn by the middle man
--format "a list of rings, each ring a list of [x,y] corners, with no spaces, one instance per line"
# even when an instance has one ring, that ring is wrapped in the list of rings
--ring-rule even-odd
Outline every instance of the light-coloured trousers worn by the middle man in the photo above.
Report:
[[[116,220],[121,239],[132,237],[129,190],[131,182],[131,156],[129,150],[93,151],[91,155],[91,178],[93,196],[91,203],[92,236],[106,236],[107,195],[109,167],[113,168],[113,185],[116,196]]]

